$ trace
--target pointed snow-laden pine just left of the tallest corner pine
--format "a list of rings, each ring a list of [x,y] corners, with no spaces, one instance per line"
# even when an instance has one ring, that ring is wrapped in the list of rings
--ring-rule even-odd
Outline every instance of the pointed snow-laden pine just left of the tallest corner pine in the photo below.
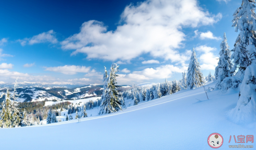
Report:
[[[223,35],[223,41],[220,43],[220,58],[217,67],[215,68],[215,80],[216,88],[220,89],[220,83],[224,80],[226,77],[232,77],[235,70],[233,70],[233,63],[231,61],[231,51],[229,50],[229,46],[227,43],[227,37],[224,33]],[[237,49],[238,50],[238,49]],[[233,69],[232,69],[233,68]],[[236,68],[236,67],[235,67]],[[208,81],[209,81],[208,77]]]

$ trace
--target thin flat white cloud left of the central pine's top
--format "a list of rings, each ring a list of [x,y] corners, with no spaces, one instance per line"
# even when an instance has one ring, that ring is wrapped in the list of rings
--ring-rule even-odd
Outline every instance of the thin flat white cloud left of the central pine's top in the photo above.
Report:
[[[65,65],[59,67],[45,67],[47,71],[61,72],[63,74],[76,74],[78,72],[88,73],[91,67],[76,66],[76,65]]]

